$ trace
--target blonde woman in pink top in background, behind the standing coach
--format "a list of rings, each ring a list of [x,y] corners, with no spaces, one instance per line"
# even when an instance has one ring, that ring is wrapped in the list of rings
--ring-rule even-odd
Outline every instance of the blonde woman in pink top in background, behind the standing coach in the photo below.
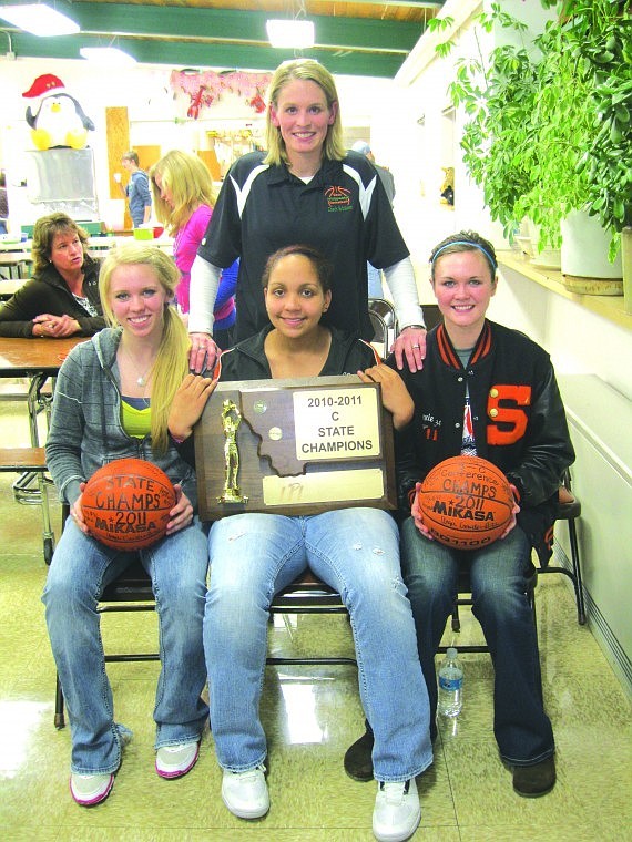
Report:
[[[154,164],[150,177],[156,217],[167,234],[175,237],[173,259],[180,269],[180,284],[175,288],[177,306],[188,314],[191,266],[213,214],[213,181],[202,158],[180,150],[167,152]],[[238,264],[234,264],[224,269],[215,299],[213,335],[222,349],[232,345],[237,267]]]

